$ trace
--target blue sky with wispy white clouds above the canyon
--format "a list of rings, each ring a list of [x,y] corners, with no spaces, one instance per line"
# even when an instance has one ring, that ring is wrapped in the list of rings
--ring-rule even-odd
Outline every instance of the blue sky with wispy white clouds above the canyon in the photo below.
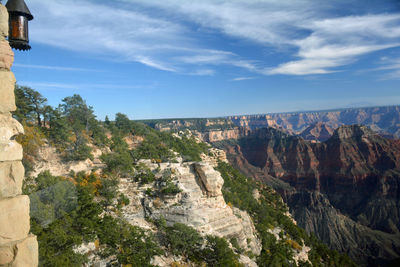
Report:
[[[25,0],[17,83],[99,119],[400,104],[399,0]]]

